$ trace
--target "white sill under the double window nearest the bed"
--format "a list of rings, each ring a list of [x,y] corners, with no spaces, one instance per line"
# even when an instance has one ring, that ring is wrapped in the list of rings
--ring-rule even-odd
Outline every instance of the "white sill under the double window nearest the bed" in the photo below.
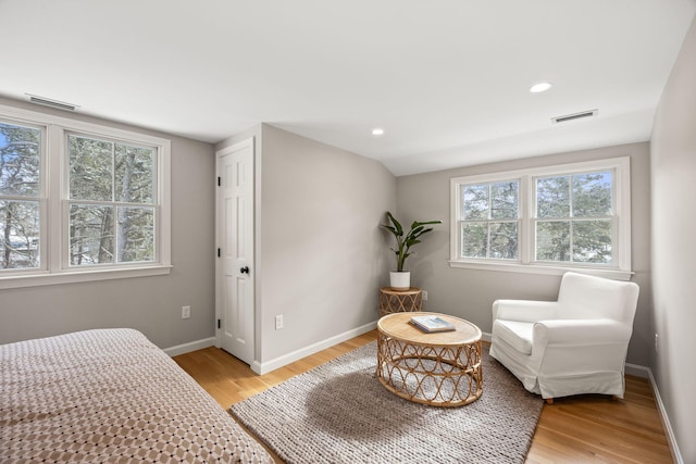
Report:
[[[53,274],[15,274],[12,276],[0,277],[0,290],[8,288],[40,287],[46,285],[77,284],[84,281],[161,276],[167,275],[171,272],[171,265],[157,265],[127,268],[91,268],[89,271],[66,271]]]

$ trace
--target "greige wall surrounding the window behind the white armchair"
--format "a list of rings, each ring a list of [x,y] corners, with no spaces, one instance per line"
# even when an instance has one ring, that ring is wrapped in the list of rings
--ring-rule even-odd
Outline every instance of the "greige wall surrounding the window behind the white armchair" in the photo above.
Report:
[[[529,158],[504,163],[485,164],[436,173],[397,178],[398,217],[413,220],[443,220],[444,223],[424,237],[409,258],[412,283],[428,292],[423,305],[428,311],[457,315],[490,333],[490,306],[496,299],[555,300],[560,276],[486,272],[451,268],[449,259],[450,185],[452,177],[494,173],[510,170],[547,166],[619,156],[631,158],[632,189],[632,280],[641,286],[634,333],[629,347],[629,362],[648,365],[651,335],[650,254],[649,254],[649,153],[648,143],[632,143],[579,152]]]

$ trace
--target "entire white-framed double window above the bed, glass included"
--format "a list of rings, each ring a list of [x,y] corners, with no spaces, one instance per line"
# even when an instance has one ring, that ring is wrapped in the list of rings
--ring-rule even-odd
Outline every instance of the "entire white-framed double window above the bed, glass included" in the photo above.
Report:
[[[0,106],[0,288],[169,273],[170,141]]]

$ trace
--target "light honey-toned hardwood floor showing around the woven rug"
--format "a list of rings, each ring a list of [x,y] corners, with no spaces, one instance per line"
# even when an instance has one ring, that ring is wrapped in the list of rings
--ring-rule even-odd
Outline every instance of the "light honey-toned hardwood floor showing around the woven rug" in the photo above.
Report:
[[[226,410],[375,339],[376,330],[372,330],[264,375],[254,374],[217,348],[182,354],[174,361]],[[527,464],[672,462],[650,384],[633,376],[626,376],[623,400],[580,396],[545,404],[526,459]]]

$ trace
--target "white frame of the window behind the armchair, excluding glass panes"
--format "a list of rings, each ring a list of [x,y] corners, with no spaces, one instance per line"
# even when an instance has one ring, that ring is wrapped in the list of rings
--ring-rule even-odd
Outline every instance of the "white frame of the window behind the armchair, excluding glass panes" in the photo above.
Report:
[[[473,268],[498,272],[562,275],[568,271],[583,272],[620,280],[629,280],[631,269],[631,159],[630,156],[585,161],[568,164],[477,174],[452,177],[450,179],[450,267]],[[612,265],[593,263],[560,263],[535,260],[536,196],[535,179],[539,177],[584,174],[599,171],[612,171],[614,214],[612,247],[616,262]],[[497,260],[490,258],[461,258],[461,187],[469,184],[486,184],[518,179],[520,183],[518,199],[520,212],[519,259]]]

